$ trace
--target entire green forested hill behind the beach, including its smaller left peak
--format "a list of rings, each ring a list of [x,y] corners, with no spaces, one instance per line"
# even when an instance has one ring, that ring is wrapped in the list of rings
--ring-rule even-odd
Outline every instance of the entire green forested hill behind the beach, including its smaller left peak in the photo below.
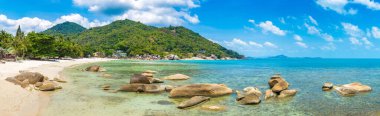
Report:
[[[214,54],[219,58],[243,57],[182,26],[158,28],[131,20],[119,20],[83,32],[81,32],[83,28],[78,26],[67,28],[72,26],[74,26],[72,23],[63,23],[43,33],[50,35],[61,33],[66,37],[72,35],[69,36],[70,40],[82,45],[85,54],[102,52],[109,56],[115,51],[121,50],[128,56],[176,54],[182,58],[189,58]]]

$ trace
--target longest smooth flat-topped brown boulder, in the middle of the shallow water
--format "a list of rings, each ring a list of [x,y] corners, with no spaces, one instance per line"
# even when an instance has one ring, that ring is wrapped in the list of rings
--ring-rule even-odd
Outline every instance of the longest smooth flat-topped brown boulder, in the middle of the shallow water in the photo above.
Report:
[[[172,89],[169,97],[216,97],[231,93],[232,89],[223,84],[190,84]]]

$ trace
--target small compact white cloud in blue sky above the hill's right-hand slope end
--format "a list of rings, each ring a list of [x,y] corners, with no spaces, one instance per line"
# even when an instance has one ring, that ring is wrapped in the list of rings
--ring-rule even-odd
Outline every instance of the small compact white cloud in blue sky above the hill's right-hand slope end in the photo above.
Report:
[[[273,33],[275,35],[279,35],[279,36],[285,36],[286,35],[286,32],[284,30],[281,30],[277,26],[273,25],[273,23],[271,21],[261,22],[258,26],[262,29],[262,31],[264,33],[271,32],[271,33]]]

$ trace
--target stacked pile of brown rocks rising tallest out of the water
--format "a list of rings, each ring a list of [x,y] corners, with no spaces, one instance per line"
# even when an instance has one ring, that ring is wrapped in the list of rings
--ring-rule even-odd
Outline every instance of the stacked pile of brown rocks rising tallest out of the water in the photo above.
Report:
[[[297,90],[288,90],[289,83],[280,74],[273,75],[268,84],[270,90],[265,91],[265,99],[271,97],[284,98],[294,96],[297,93]]]

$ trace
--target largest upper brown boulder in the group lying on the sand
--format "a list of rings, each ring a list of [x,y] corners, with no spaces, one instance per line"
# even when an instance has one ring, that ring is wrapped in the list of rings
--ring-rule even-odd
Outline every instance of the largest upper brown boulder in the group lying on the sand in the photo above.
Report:
[[[20,82],[28,79],[30,84],[36,84],[37,82],[44,81],[45,76],[38,72],[22,72],[14,78]]]

